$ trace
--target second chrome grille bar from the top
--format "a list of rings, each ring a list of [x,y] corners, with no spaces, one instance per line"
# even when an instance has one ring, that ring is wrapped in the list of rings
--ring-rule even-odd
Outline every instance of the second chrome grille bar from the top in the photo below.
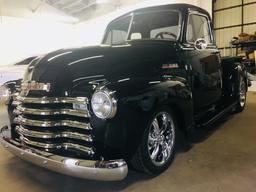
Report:
[[[89,111],[75,110],[75,109],[32,109],[22,107],[20,105],[14,110],[17,115],[29,114],[29,115],[72,115],[78,117],[90,117]]]

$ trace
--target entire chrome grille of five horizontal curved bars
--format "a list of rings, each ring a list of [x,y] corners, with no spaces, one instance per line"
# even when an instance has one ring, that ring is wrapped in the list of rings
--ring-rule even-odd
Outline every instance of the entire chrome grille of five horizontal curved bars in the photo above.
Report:
[[[13,125],[18,140],[24,145],[45,151],[73,151],[93,156],[90,113],[73,109],[74,104],[88,105],[85,97],[14,98]]]

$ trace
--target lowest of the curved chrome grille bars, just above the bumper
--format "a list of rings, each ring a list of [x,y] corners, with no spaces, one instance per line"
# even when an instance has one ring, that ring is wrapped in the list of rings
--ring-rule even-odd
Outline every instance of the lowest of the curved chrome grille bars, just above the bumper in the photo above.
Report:
[[[31,141],[22,135],[20,136],[20,140],[26,143],[27,145],[32,145],[32,146],[40,147],[44,149],[75,149],[75,150],[87,153],[88,155],[94,155],[94,151],[91,147],[85,147],[85,146],[74,144],[74,143],[54,143],[54,144],[41,143],[37,141]]]

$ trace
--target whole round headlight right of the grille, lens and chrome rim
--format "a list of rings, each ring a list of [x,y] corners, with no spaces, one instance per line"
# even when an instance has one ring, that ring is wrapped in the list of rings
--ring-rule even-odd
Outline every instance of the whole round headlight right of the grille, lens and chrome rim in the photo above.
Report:
[[[96,91],[91,105],[94,114],[100,119],[110,119],[116,114],[116,100],[108,90]]]

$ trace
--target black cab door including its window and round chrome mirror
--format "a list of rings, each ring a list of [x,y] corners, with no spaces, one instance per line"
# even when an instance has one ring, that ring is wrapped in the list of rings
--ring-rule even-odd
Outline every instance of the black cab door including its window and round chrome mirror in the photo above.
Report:
[[[185,39],[194,108],[200,111],[217,102],[222,92],[220,53],[214,44],[209,16],[191,12]]]

